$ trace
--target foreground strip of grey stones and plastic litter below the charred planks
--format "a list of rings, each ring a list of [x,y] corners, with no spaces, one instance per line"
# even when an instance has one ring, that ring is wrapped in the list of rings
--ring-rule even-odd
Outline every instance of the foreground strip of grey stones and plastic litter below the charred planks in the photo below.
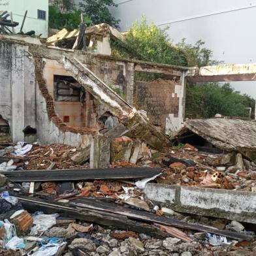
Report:
[[[2,195],[12,208],[18,200]],[[1,208],[1,214],[4,210]],[[178,213],[177,213],[178,214]],[[178,214],[181,216],[181,214]],[[1,216],[1,215],[0,215]],[[182,216],[186,219],[189,216]],[[223,228],[244,231],[236,221]],[[208,219],[201,218],[207,225]],[[185,233],[184,233],[185,234]],[[187,240],[188,242],[185,242]],[[157,239],[148,234],[103,227],[61,214],[14,211],[0,221],[1,255],[254,255],[255,242],[229,240],[205,232],[187,231],[185,238]],[[246,254],[240,254],[244,251]]]

